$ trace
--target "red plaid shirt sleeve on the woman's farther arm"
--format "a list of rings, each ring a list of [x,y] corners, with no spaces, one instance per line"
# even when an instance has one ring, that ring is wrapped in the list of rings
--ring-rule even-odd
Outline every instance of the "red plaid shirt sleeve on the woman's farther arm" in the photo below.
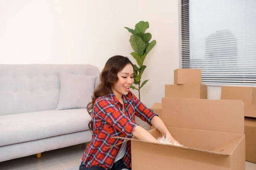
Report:
[[[140,117],[141,120],[152,126],[151,119],[154,116],[158,116],[157,113],[150,108],[147,108],[134,94],[132,94],[132,99],[134,100],[135,115]]]

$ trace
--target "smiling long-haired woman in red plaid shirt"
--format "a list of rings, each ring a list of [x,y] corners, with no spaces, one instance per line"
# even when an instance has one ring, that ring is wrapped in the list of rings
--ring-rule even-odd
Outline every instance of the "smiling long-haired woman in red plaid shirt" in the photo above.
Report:
[[[131,141],[123,142],[123,139],[111,136],[135,136],[140,140],[159,143],[135,122],[135,115],[169,136],[172,142],[177,142],[158,115],[131,93],[133,74],[133,64],[127,57],[108,59],[92,102],[87,105],[87,111],[92,116],[88,124],[92,140],[86,147],[79,170],[131,170]],[[111,147],[113,145],[116,146]]]

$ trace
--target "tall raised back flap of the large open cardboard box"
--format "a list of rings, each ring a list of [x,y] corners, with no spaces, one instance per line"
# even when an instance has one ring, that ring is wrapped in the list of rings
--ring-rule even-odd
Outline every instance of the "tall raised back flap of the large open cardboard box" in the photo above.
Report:
[[[244,134],[244,103],[162,98],[162,120],[166,126]]]

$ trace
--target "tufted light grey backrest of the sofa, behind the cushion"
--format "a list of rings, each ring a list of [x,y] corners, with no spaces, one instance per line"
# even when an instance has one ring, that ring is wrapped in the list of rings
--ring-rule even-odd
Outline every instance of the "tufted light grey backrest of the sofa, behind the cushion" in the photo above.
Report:
[[[0,116],[55,110],[60,94],[59,72],[96,76],[93,65],[0,65]]]

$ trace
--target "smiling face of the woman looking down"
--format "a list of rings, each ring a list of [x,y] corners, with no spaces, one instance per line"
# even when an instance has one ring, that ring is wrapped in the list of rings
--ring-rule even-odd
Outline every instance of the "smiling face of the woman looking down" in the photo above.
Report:
[[[117,73],[118,81],[113,85],[113,92],[116,97],[127,95],[131,85],[134,83],[134,69],[131,64],[125,65],[125,67]]]

